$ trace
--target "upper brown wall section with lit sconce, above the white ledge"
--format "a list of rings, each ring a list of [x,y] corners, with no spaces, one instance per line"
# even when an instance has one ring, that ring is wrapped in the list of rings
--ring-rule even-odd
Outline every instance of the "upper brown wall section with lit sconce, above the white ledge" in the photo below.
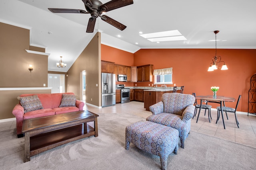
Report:
[[[47,84],[48,56],[25,51],[30,49],[29,30],[0,22],[0,37],[0,88]]]

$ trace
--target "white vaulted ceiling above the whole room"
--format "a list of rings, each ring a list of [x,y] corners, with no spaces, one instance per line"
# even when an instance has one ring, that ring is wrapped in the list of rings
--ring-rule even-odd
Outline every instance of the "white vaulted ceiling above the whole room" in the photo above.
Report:
[[[104,4],[109,0],[101,0]],[[82,0],[1,0],[0,21],[30,29],[30,44],[46,47],[48,70],[67,72],[96,32],[102,44],[135,53],[139,49],[256,49],[256,0],[133,0],[106,13],[124,31],[97,18],[86,33],[90,14],[56,14],[48,8],[85,10]],[[139,32],[178,30],[187,40],[151,42]],[[118,37],[118,35],[120,37]],[[212,41],[214,40],[214,41]],[[137,44],[136,44],[137,43]],[[63,56],[66,68],[57,68]]]

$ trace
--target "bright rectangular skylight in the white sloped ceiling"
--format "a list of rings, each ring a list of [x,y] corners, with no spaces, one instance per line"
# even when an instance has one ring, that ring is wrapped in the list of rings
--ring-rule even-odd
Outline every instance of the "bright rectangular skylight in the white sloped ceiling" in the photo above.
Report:
[[[187,40],[178,30],[140,34],[151,42]]]

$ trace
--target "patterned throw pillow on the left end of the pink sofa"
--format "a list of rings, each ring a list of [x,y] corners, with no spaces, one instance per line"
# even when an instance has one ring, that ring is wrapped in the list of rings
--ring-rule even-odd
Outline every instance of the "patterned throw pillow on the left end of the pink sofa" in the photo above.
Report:
[[[37,95],[18,97],[18,100],[20,100],[21,106],[24,107],[24,113],[44,108]]]

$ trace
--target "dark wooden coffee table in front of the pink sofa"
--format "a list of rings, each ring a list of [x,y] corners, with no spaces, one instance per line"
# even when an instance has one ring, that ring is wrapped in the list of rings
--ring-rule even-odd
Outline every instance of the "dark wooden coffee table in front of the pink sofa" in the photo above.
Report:
[[[76,141],[98,136],[99,115],[88,110],[64,113],[23,121],[22,133],[25,133],[24,162],[46,150]],[[87,122],[94,121],[94,127]]]

